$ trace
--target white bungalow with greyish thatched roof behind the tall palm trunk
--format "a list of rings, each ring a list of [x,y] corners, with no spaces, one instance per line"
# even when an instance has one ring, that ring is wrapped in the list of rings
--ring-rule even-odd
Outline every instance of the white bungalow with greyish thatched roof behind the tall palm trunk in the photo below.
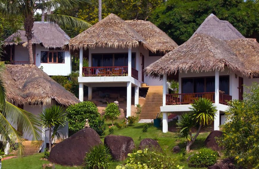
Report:
[[[71,55],[62,50],[69,36],[56,24],[34,22],[32,51],[34,64],[49,76],[67,76],[71,73]],[[29,64],[29,53],[26,46],[25,31],[19,30],[5,40],[10,64]]]

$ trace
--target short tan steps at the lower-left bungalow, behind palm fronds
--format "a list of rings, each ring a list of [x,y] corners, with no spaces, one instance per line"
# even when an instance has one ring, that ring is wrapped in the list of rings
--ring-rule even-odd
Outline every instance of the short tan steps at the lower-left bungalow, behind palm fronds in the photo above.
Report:
[[[24,155],[32,155],[40,152],[40,149],[43,146],[43,140],[40,141],[24,141]]]

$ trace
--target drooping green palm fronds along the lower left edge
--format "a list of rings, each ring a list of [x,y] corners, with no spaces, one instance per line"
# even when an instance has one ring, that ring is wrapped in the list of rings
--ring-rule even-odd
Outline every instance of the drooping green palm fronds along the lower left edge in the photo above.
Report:
[[[16,145],[17,154],[22,155],[22,142],[24,141],[22,133],[32,136],[32,140],[40,140],[41,131],[38,129],[40,124],[33,114],[6,101],[6,90],[2,79],[4,71],[4,62],[0,62],[0,140],[4,144],[7,144],[8,141],[10,144]],[[15,129],[15,124],[19,125],[19,131],[22,132]],[[10,139],[11,135],[14,139]]]

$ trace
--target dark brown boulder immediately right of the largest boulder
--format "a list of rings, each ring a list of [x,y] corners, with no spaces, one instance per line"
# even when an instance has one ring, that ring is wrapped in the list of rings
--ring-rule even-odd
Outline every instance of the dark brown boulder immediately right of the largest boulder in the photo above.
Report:
[[[113,158],[116,161],[123,161],[132,153],[135,148],[134,141],[131,137],[121,135],[108,135],[104,138],[104,144],[109,147]]]

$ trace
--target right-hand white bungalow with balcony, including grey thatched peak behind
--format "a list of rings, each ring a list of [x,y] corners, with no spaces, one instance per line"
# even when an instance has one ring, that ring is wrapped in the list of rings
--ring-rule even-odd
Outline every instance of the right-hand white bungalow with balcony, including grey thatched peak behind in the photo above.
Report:
[[[259,82],[259,44],[247,39],[227,21],[209,15],[193,36],[145,69],[163,79],[163,132],[168,114],[188,112],[190,103],[209,98],[218,107],[214,130],[224,124],[227,101],[243,99],[246,86]],[[179,93],[168,94],[167,77],[179,82]]]

